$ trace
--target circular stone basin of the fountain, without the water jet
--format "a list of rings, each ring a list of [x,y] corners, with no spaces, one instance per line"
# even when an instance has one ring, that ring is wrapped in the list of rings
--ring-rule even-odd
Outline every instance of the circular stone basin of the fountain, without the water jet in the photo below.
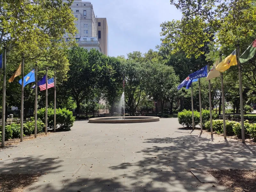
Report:
[[[126,116],[124,117],[96,117],[89,119],[89,123],[146,123],[159,121],[159,117]]]

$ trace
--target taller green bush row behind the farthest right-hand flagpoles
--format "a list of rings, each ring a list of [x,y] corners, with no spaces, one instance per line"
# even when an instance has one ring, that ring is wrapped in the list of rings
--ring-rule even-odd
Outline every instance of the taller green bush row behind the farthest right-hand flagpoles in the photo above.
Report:
[[[216,119],[217,114],[212,113],[212,119]],[[205,128],[205,123],[210,120],[210,111],[203,109],[202,110],[202,121],[203,128]],[[178,121],[184,127],[192,127],[192,111],[184,109],[183,111],[178,113]],[[194,111],[194,124],[200,124],[200,113],[198,111]]]

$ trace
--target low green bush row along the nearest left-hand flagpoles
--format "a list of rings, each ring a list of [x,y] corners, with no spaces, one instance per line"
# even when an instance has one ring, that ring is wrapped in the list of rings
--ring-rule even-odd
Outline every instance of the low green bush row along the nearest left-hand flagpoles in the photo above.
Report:
[[[2,130],[2,126],[0,126]],[[37,120],[37,133],[43,132],[45,124],[41,120]],[[31,135],[35,132],[35,121],[26,122],[23,124],[23,136]],[[20,124],[12,123],[5,126],[4,140],[20,138]],[[0,136],[2,141],[2,132]]]

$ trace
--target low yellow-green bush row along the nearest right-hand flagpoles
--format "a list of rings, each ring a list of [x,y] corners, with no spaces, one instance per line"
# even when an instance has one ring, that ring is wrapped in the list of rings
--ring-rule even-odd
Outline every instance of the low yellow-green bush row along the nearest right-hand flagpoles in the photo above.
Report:
[[[205,128],[211,128],[210,121],[206,122]],[[223,133],[223,120],[213,120],[212,129],[217,133]],[[238,138],[242,138],[242,126],[241,123],[236,121],[226,120],[226,132],[227,135],[236,135]],[[252,138],[256,140],[256,123],[250,124],[248,120],[244,121],[244,133],[246,138]]]

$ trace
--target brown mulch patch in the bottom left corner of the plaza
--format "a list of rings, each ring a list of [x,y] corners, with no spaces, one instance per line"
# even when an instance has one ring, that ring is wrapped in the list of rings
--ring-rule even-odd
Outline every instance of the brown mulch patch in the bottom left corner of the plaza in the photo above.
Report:
[[[38,181],[40,174],[0,174],[0,191],[22,192]]]

